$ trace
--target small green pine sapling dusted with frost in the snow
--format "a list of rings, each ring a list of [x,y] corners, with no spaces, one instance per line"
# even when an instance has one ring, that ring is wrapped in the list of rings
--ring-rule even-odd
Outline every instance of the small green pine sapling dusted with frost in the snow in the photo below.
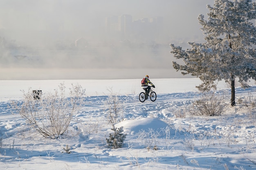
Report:
[[[114,132],[109,134],[109,138],[106,138],[108,147],[112,149],[122,148],[123,142],[126,138],[126,134],[124,134],[123,126],[120,128],[115,128],[114,125],[112,125],[112,129]]]

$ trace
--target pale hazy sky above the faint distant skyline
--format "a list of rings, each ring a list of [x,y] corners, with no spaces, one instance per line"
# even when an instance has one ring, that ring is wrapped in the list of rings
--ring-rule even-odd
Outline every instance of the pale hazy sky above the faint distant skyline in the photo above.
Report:
[[[213,0],[0,0],[0,28],[26,35],[33,30],[90,34],[106,17],[130,14],[133,20],[162,16],[173,37],[194,37],[201,33],[197,16],[208,12],[207,4]]]

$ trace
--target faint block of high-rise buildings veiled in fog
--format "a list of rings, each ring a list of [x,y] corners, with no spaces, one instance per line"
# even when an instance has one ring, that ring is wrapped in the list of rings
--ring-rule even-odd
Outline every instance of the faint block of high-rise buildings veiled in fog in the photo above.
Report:
[[[132,20],[132,15],[120,15],[105,19],[107,38],[114,40],[139,40],[141,42],[159,40],[164,37],[164,18],[141,18]]]

